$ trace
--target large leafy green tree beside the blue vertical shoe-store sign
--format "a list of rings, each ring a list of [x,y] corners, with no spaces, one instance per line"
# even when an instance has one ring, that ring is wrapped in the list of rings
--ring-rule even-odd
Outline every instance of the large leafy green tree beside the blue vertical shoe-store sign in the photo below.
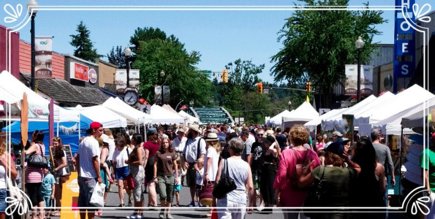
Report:
[[[348,0],[303,0],[307,6],[347,6]],[[366,4],[368,7],[368,3]],[[283,48],[271,58],[275,81],[312,86],[320,93],[322,106],[329,106],[335,84],[345,78],[344,65],[356,63],[355,41],[366,42],[361,52],[363,63],[377,46],[373,37],[380,35],[374,26],[387,22],[377,11],[296,11],[279,32]]]

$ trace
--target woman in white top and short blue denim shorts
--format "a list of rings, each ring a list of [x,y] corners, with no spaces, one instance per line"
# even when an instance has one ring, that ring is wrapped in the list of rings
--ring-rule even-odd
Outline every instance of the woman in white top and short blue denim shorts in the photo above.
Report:
[[[118,181],[118,194],[121,204],[118,207],[124,207],[124,179],[130,173],[128,169],[128,156],[131,153],[131,149],[125,146],[125,140],[122,137],[115,139],[116,150],[113,152],[112,162],[113,170],[112,178]],[[131,190],[126,189],[128,194],[128,206],[131,206]]]

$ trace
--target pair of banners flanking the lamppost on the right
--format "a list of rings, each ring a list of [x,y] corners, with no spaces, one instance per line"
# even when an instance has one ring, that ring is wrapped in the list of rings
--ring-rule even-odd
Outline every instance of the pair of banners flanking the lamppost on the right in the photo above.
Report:
[[[345,65],[346,82],[344,95],[356,95],[358,71],[357,65]],[[372,95],[373,93],[373,66],[361,65],[360,79],[361,95]]]

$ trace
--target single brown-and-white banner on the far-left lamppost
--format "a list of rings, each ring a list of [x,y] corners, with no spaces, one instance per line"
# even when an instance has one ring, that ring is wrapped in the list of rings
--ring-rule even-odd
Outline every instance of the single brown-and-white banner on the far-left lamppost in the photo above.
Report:
[[[35,78],[51,78],[53,37],[35,37]]]

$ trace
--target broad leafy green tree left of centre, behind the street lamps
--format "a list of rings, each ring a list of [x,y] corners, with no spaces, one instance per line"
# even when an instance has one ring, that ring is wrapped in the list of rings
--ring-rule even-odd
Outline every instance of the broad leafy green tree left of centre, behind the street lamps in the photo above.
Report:
[[[171,89],[173,106],[180,100],[208,105],[211,81],[195,67],[199,61],[199,52],[187,52],[178,39],[139,41],[133,66],[140,69],[140,94],[154,102],[154,86],[164,84]],[[160,77],[162,70],[164,78]]]

